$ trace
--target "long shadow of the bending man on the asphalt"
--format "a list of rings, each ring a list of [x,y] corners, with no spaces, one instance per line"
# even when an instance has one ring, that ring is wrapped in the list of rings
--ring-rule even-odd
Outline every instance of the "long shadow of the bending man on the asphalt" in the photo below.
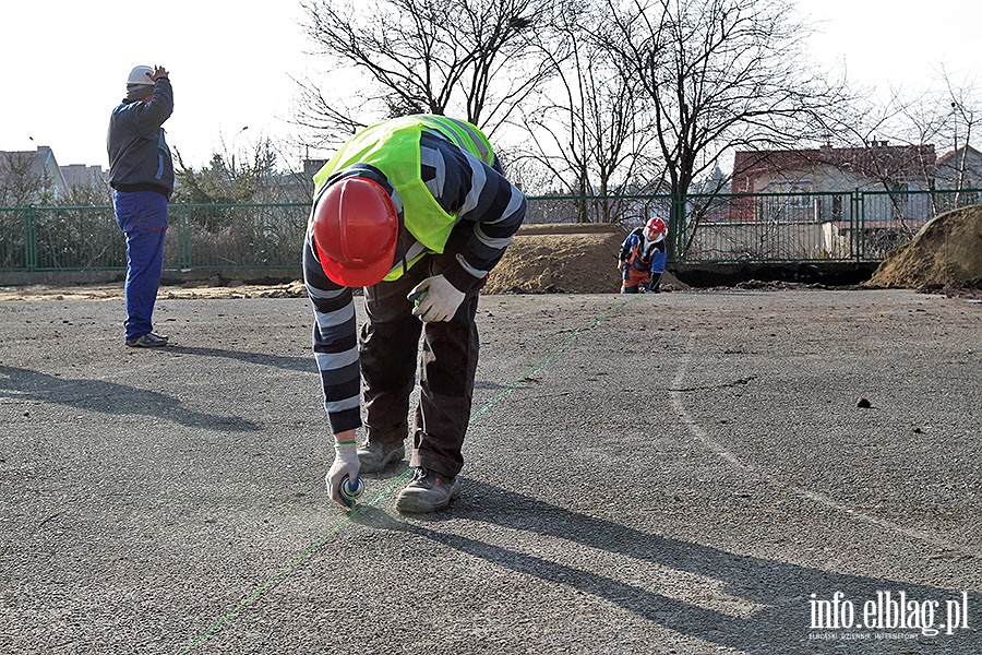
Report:
[[[890,592],[894,599],[902,591],[908,602],[938,600],[933,624],[945,623],[945,603],[961,598],[960,592],[927,585],[897,582],[882,577],[867,577],[835,573],[788,562],[750,557],[719,550],[693,541],[661,537],[642,532],[609,520],[598,519],[564,510],[514,491],[486,483],[464,480],[464,493],[452,511],[432,515],[404,519],[390,515],[379,508],[366,510],[354,519],[379,529],[399,531],[429,538],[470,557],[481,558],[498,567],[531,575],[542,581],[570,586],[615,604],[645,620],[688,634],[720,646],[738,648],[753,654],[783,652],[785,646],[799,648],[810,632],[823,632],[811,628],[814,597],[830,600],[836,592],[855,605],[855,620],[861,626],[863,603],[876,600],[877,592]],[[700,575],[719,581],[719,590],[728,595],[750,602],[759,608],[732,616],[715,609],[659,594],[649,588],[628,584],[616,577],[585,571],[552,561],[538,555],[529,555],[440,531],[440,523],[448,520],[489,523],[535,535],[548,535],[573,541],[588,548],[607,550],[620,556],[648,561],[659,567]],[[479,534],[480,531],[475,531]],[[544,550],[544,549],[543,549]],[[615,572],[614,572],[615,574]],[[679,586],[685,582],[680,581]],[[685,593],[711,598],[714,586],[706,590],[686,590]],[[969,611],[968,624],[978,624],[980,612]],[[924,621],[922,621],[924,622]],[[862,632],[863,628],[854,629]],[[828,632],[825,630],[824,632]],[[849,632],[849,631],[846,631]],[[883,632],[883,630],[881,630]],[[886,630],[886,632],[898,632]],[[910,630],[903,631],[911,634]],[[925,645],[944,648],[946,653],[972,652],[977,639],[974,629],[959,630],[954,635],[944,630],[936,636],[917,639],[869,640],[872,643],[852,642],[860,650],[874,646],[876,652],[912,652],[910,648]],[[817,646],[817,644],[815,644]],[[848,644],[838,644],[839,646]],[[961,651],[965,646],[968,650]],[[959,650],[955,650],[959,648]],[[852,651],[854,652],[854,651]]]

